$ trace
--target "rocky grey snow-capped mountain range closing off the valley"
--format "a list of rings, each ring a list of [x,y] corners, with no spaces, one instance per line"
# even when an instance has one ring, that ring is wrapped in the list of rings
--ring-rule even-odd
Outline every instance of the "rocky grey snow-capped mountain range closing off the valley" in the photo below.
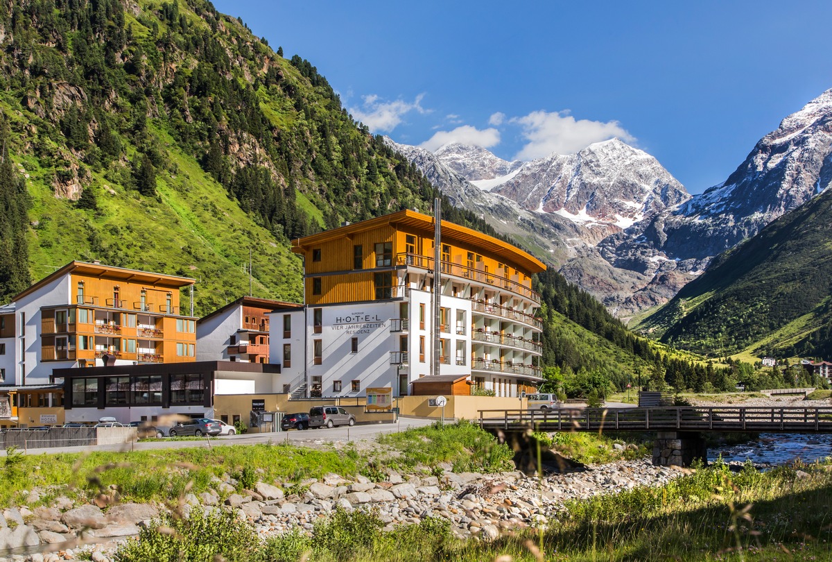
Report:
[[[457,144],[433,154],[395,148],[456,204],[629,316],[669,300],[714,256],[830,186],[832,90],[760,139],[726,182],[693,197],[617,139],[523,163]]]

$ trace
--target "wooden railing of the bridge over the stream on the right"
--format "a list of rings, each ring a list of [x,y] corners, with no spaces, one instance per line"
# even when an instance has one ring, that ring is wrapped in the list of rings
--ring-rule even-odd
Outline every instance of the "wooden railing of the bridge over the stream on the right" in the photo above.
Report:
[[[480,426],[543,431],[704,430],[832,433],[832,407],[478,410]]]

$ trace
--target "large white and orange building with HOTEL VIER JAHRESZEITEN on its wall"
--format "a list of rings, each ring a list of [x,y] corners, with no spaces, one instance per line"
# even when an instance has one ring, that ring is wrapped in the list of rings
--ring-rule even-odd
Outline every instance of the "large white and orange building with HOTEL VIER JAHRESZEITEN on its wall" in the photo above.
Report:
[[[385,386],[408,395],[410,383],[430,375],[468,377],[498,396],[537,386],[542,326],[531,276],[546,266],[448,221],[438,252],[435,238],[432,216],[405,210],[293,241],[305,261],[306,309],[284,314],[277,328],[305,326],[306,364],[282,369],[296,396],[365,396]],[[291,351],[280,336],[273,320],[273,357]]]

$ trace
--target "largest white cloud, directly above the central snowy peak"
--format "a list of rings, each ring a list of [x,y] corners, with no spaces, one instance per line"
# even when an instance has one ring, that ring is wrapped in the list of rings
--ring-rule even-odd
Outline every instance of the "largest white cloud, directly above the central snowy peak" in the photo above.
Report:
[[[509,122],[520,125],[523,128],[522,136],[527,140],[515,157],[518,160],[547,157],[552,152],[572,154],[593,142],[607,141],[613,137],[626,142],[636,140],[617,121],[605,123],[576,120],[568,111],[531,112],[525,117],[513,117]]]

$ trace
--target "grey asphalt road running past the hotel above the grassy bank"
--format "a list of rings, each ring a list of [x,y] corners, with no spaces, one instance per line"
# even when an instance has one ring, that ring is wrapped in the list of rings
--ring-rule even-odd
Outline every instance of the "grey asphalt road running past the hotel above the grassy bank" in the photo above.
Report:
[[[277,431],[274,433],[255,433],[244,435],[225,435],[222,437],[204,437],[201,440],[165,438],[152,441],[138,441],[121,445],[93,445],[78,447],[50,447],[48,449],[27,449],[27,455],[42,455],[49,453],[81,453],[96,450],[156,450],[156,449],[181,449],[185,447],[220,447],[224,445],[255,445],[260,443],[291,443],[293,445],[305,445],[305,443],[324,443],[326,441],[354,441],[374,439],[375,435],[381,433],[394,433],[406,430],[410,427],[423,427],[431,425],[436,420],[426,418],[399,417],[395,424],[372,424],[354,425],[352,427],[334,427],[331,430],[290,430]],[[6,451],[0,450],[0,456],[5,456]]]

